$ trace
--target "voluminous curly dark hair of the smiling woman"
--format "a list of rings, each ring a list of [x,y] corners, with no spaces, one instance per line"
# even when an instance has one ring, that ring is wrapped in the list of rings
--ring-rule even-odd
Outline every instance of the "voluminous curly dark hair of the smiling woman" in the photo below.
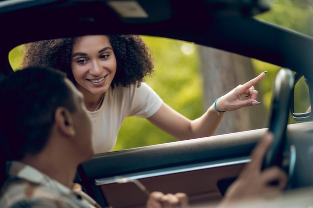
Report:
[[[153,73],[153,63],[149,48],[138,35],[106,35],[116,57],[116,73],[111,87],[121,84],[129,87],[140,86],[144,77]],[[24,45],[22,67],[49,66],[66,72],[76,84],[70,68],[72,46],[79,42],[79,36],[41,40]]]

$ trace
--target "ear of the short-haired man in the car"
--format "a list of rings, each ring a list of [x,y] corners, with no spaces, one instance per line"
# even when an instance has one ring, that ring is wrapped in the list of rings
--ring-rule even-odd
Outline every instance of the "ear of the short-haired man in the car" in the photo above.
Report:
[[[75,128],[73,126],[73,118],[70,112],[64,107],[58,107],[54,113],[54,120],[57,129],[64,135],[75,136]]]

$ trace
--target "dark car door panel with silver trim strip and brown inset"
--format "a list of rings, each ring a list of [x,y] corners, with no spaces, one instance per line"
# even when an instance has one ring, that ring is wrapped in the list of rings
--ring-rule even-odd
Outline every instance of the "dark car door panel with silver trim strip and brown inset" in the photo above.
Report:
[[[309,132],[312,124],[288,125],[287,135],[294,138],[294,134]],[[79,166],[77,182],[103,207],[145,205],[144,192],[133,183],[116,183],[115,176],[139,180],[150,192],[184,192],[191,205],[217,203],[249,162],[251,150],[266,131],[263,128],[98,154]]]

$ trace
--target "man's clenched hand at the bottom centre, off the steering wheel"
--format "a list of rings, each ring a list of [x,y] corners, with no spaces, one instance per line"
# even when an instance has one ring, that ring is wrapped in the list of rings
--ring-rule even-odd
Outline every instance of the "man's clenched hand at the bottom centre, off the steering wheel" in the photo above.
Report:
[[[188,208],[188,197],[184,193],[163,194],[152,192],[146,202],[146,208]]]

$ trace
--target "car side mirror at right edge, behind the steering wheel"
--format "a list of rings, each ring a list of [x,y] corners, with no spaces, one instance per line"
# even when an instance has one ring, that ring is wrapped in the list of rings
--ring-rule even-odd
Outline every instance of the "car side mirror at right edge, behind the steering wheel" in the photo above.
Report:
[[[313,82],[305,79],[302,74],[294,74],[294,85],[291,93],[290,111],[296,121],[313,120],[311,104],[313,103]]]

